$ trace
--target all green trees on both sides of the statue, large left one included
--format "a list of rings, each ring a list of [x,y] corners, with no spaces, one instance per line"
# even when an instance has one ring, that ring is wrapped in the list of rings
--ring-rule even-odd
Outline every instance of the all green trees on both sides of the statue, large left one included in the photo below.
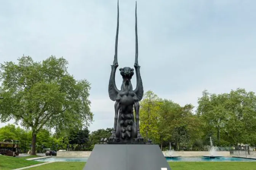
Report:
[[[13,119],[29,129],[6,126],[1,128],[0,139],[26,141],[26,136],[35,154],[38,145],[91,150],[102,137],[110,136],[112,128],[94,132],[85,128],[93,121],[90,83],[76,80],[67,66],[67,60],[55,56],[43,61],[22,56],[18,63],[0,65],[0,97],[4,98],[0,100],[0,121]],[[141,134],[163,150],[170,145],[175,150],[205,150],[210,137],[216,146],[256,145],[256,96],[252,91],[238,88],[214,94],[205,90],[197,108],[147,91],[140,105]]]

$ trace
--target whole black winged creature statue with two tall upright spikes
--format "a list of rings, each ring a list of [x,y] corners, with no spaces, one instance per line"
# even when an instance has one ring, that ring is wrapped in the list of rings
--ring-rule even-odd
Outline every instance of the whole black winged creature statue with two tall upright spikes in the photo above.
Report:
[[[109,98],[115,101],[115,121],[114,131],[109,141],[111,142],[143,142],[143,138],[139,133],[139,101],[143,96],[143,85],[140,66],[138,64],[138,30],[137,30],[137,2],[135,7],[135,36],[136,36],[136,53],[134,68],[136,71],[137,86],[133,90],[131,78],[134,69],[130,67],[120,68],[120,74],[123,77],[121,90],[117,89],[115,84],[115,72],[118,67],[117,62],[117,46],[118,46],[118,29],[119,29],[119,5],[117,3],[117,32],[115,36],[115,56],[113,65],[111,65],[111,74],[109,79]],[[133,107],[136,113],[136,123],[134,122]],[[118,114],[119,112],[119,114]]]

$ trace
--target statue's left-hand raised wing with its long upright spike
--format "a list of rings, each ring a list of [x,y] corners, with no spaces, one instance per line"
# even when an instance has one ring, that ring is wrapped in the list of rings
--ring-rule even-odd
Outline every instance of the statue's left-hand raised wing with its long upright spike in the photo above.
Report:
[[[115,56],[114,56],[113,65],[111,65],[111,74],[109,79],[109,98],[112,101],[115,101],[117,99],[117,94],[120,92],[120,90],[117,89],[117,86],[115,84],[115,72],[118,67],[118,62],[117,62],[118,29],[119,29],[119,5],[117,2],[117,33],[115,35]]]

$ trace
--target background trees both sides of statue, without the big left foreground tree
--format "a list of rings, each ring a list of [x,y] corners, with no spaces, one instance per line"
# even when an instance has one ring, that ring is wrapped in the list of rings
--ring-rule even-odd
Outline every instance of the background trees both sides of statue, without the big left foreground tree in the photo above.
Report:
[[[198,107],[179,105],[161,99],[153,91],[147,91],[141,101],[140,127],[145,140],[151,139],[162,150],[207,150],[210,137],[215,146],[230,147],[239,144],[256,146],[256,96],[238,88],[230,93],[210,94],[203,91]],[[52,134],[42,129],[37,135],[36,148],[44,145],[54,150],[91,151],[101,138],[108,138],[112,128],[90,132],[88,128],[76,128],[69,133]],[[26,139],[25,139],[26,138]],[[29,147],[32,131],[14,125],[0,128],[0,140],[20,140]],[[58,146],[58,147],[56,147]]]

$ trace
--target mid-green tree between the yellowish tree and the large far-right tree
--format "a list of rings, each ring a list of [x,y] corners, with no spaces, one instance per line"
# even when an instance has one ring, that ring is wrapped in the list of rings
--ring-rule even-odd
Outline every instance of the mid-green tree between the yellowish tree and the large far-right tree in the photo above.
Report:
[[[169,141],[179,150],[180,146],[190,145],[200,136],[200,122],[197,116],[193,115],[193,108],[191,104],[181,107],[173,101],[163,100],[159,123],[163,142]]]

